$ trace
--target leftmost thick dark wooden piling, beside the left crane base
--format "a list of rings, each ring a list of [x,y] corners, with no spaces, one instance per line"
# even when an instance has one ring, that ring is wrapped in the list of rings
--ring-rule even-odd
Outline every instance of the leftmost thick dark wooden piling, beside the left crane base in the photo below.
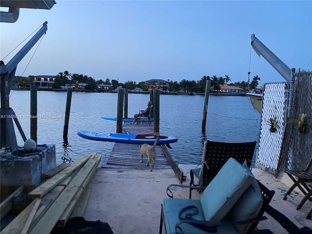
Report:
[[[30,138],[37,143],[37,85],[30,85]]]

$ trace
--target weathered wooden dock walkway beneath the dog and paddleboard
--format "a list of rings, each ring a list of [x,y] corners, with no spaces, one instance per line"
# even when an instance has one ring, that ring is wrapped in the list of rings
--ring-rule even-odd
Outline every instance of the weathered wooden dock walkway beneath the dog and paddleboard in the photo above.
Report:
[[[153,133],[154,125],[148,122],[143,122],[138,125],[130,124],[130,122],[124,122],[123,130],[131,133]],[[157,169],[174,169],[175,173],[179,175],[179,169],[176,162],[172,159],[172,156],[167,151],[165,145],[156,145],[156,162],[154,170]],[[139,144],[123,144],[115,143],[107,164],[102,165],[102,168],[112,170],[150,170],[150,166],[146,166],[147,157],[143,157],[143,162],[140,163],[140,145]]]

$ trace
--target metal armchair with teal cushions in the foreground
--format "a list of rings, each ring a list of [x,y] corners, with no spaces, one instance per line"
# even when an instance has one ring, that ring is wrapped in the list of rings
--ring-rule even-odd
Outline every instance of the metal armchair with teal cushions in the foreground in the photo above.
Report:
[[[201,220],[204,224],[217,225],[217,234],[247,234],[251,229],[255,229],[256,224],[264,213],[265,206],[271,201],[274,191],[269,191],[261,185],[262,195],[260,202],[258,192],[250,192],[251,188],[257,184],[253,174],[235,159],[230,158],[219,173],[200,195],[199,200],[195,199],[164,199],[161,210],[160,230],[164,223],[167,234],[180,233],[176,227],[181,228],[184,234],[204,234],[207,233],[191,224],[192,220],[180,220],[179,212],[187,206],[196,206],[198,213],[195,219]],[[259,182],[258,182],[259,183]],[[187,185],[170,185],[170,187],[190,187]],[[255,190],[260,190],[259,186]],[[245,192],[247,192],[245,194]],[[172,192],[170,191],[172,194]],[[260,192],[261,194],[261,192]],[[169,195],[169,194],[168,194]],[[252,198],[250,199],[250,196]],[[254,198],[256,196],[256,198]],[[240,202],[244,198],[247,201]],[[262,204],[262,198],[266,201]],[[246,208],[245,202],[250,206]],[[236,205],[238,204],[238,205]],[[239,205],[240,204],[240,205]],[[241,205],[243,204],[243,205]],[[191,213],[186,212],[186,213]],[[254,215],[256,214],[256,218]],[[238,217],[236,217],[238,215]],[[259,218],[260,217],[260,218]],[[248,220],[248,221],[246,221]],[[255,226],[254,226],[255,223]]]

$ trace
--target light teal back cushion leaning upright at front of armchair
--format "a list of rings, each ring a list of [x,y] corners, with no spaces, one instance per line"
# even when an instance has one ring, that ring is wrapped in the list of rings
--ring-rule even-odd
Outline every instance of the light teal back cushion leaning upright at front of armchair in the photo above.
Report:
[[[250,170],[229,158],[200,195],[205,219],[221,221],[254,180]]]

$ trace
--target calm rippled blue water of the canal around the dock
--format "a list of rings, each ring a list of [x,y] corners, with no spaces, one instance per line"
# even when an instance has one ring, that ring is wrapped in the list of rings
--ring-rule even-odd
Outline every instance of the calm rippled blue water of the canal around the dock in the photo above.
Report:
[[[30,91],[10,93],[10,107],[19,117],[27,138],[30,137]],[[77,135],[78,130],[116,132],[116,121],[100,117],[117,116],[117,93],[73,92],[68,130],[68,147],[63,147],[63,126],[66,92],[38,91],[38,144],[55,144],[57,164],[62,156],[76,159],[98,152],[106,162],[114,143],[92,141]],[[128,115],[145,109],[149,95],[129,94]],[[201,133],[204,96],[160,95],[160,134],[178,137],[169,152],[177,163],[197,163],[201,159],[203,142],[258,141],[259,114],[247,97],[210,96],[206,134]],[[258,121],[257,121],[258,119]],[[16,129],[19,146],[23,140]],[[138,156],[139,157],[139,156]]]

